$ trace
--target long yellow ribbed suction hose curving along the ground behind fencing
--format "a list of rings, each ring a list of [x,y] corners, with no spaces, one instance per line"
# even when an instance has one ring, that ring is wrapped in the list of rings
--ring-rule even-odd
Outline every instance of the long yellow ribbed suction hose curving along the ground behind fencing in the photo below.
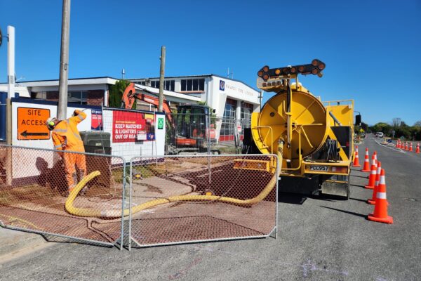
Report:
[[[282,153],[278,153],[279,156],[282,157]],[[279,165],[281,166],[281,165]],[[278,167],[279,169],[279,167]],[[273,176],[270,179],[269,183],[265,186],[262,192],[259,193],[258,196],[253,197],[248,200],[239,200],[232,197],[221,197],[218,195],[176,195],[167,198],[159,198],[156,200],[151,200],[145,203],[142,203],[138,206],[132,207],[131,211],[132,214],[137,213],[138,211],[142,211],[145,209],[149,209],[161,204],[171,203],[171,202],[180,202],[180,201],[218,201],[218,202],[226,202],[229,204],[236,204],[239,206],[251,206],[253,204],[257,204],[258,202],[262,201],[269,195],[269,193],[274,189],[276,185],[276,173],[274,173],[274,169],[272,169]],[[112,210],[95,210],[95,209],[88,209],[88,208],[77,208],[73,206],[73,202],[76,199],[76,196],[82,190],[82,188],[91,181],[96,176],[99,176],[101,173],[100,171],[93,171],[88,176],[84,177],[70,192],[69,197],[67,197],[65,208],[69,214],[74,216],[86,216],[86,217],[102,217],[102,218],[116,218],[121,215],[121,209],[112,209]],[[124,209],[124,216],[128,216],[130,209]]]

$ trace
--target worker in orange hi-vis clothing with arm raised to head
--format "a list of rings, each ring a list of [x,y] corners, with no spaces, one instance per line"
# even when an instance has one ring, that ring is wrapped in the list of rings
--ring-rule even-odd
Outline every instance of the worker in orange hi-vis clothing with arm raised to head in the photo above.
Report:
[[[47,127],[51,132],[55,150],[85,152],[83,141],[77,129],[77,124],[86,118],[86,113],[74,110],[72,117],[66,120],[58,120],[53,117],[47,120]],[[79,153],[60,153],[65,163],[65,173],[69,193],[78,183],[76,168],[79,170],[79,181],[86,176],[85,155]]]

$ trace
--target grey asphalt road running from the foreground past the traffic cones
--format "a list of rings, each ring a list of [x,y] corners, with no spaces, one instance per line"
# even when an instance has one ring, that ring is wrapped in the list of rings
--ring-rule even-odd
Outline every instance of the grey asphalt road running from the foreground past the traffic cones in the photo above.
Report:
[[[394,224],[366,220],[371,190],[352,171],[348,201],[279,202],[279,237],[118,251],[55,243],[0,264],[0,280],[421,280],[421,155],[375,143]],[[361,164],[363,164],[361,161]]]

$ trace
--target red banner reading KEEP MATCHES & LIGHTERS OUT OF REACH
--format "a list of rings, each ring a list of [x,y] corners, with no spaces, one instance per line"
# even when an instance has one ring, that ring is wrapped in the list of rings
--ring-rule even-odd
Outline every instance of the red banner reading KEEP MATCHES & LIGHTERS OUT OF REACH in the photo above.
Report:
[[[140,112],[114,110],[112,112],[113,143],[131,143],[141,141],[138,135],[145,131],[145,118]]]

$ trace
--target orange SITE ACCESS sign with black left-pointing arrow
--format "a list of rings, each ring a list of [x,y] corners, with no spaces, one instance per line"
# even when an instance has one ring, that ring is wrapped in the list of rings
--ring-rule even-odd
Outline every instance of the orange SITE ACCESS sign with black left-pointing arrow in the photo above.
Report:
[[[18,140],[49,140],[48,118],[45,108],[18,107]]]

